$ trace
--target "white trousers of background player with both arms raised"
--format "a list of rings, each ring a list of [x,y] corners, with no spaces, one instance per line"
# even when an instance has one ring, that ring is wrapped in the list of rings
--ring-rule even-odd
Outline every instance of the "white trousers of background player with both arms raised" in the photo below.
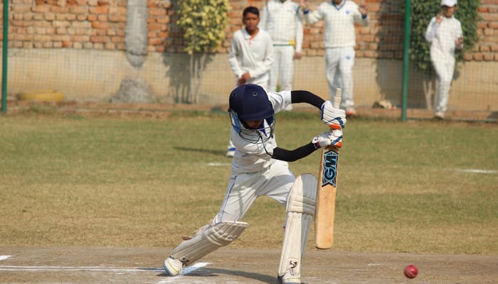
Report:
[[[353,46],[325,48],[325,76],[329,83],[330,99],[334,102],[337,88],[342,89],[341,109],[354,107],[353,66],[355,51]]]

